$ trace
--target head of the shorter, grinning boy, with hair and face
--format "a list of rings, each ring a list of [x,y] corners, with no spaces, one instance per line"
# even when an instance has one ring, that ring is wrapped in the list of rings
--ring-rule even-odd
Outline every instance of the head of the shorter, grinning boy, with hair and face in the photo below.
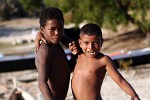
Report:
[[[79,44],[86,55],[95,57],[99,53],[102,43],[102,32],[98,25],[89,23],[81,28]]]

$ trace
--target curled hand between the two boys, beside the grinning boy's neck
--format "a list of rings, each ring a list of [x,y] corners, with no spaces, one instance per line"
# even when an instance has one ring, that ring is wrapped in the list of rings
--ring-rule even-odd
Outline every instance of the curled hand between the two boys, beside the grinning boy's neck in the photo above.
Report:
[[[72,52],[72,54],[76,55],[79,52],[80,47],[77,42],[73,41],[73,42],[69,43],[69,49]]]

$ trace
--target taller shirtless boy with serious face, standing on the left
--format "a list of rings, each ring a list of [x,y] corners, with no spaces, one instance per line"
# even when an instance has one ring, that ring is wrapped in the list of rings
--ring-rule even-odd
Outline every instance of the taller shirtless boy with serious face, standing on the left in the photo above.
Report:
[[[61,10],[53,7],[40,14],[40,29],[47,41],[42,43],[35,57],[38,84],[44,100],[65,100],[70,71],[63,48],[59,44],[64,34]]]

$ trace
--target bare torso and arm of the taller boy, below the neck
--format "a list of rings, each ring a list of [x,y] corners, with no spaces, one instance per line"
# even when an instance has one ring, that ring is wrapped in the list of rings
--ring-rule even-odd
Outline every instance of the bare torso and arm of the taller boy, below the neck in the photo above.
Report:
[[[36,65],[39,87],[43,95],[45,94],[44,97],[65,100],[70,73],[67,58],[60,44],[53,46],[42,43],[37,53]]]

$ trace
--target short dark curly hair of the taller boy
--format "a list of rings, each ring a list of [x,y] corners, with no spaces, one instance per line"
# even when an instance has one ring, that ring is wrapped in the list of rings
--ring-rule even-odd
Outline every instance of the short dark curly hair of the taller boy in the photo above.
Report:
[[[64,17],[62,11],[58,8],[48,7],[42,10],[40,13],[40,19],[39,19],[40,27],[44,27],[47,20],[50,19],[59,19],[62,20],[64,23]]]

